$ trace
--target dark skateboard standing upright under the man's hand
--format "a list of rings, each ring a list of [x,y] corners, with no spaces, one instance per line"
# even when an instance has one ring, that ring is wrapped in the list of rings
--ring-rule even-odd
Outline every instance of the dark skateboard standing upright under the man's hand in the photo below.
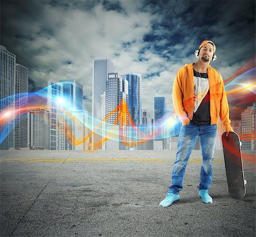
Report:
[[[235,199],[245,197],[246,180],[243,173],[240,138],[236,132],[222,134],[222,145],[228,181],[229,195]]]

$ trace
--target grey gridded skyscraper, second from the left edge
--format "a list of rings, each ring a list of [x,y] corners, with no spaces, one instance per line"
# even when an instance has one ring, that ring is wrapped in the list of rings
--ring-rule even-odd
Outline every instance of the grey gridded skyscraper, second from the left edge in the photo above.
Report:
[[[28,69],[16,64],[14,147],[28,147],[27,134]]]

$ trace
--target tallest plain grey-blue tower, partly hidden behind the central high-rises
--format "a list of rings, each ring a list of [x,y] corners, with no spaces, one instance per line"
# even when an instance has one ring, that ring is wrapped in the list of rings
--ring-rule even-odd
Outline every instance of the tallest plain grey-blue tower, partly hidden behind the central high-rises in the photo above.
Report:
[[[114,72],[114,65],[109,59],[93,60],[92,85],[92,129],[95,131],[92,138],[92,149],[101,149],[101,135],[97,127],[101,123],[101,95],[106,92],[106,78],[108,73]]]

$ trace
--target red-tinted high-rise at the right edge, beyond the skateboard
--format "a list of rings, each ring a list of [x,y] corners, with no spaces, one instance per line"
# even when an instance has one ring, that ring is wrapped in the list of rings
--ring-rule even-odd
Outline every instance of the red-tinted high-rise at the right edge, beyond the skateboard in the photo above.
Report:
[[[256,149],[255,147],[255,124],[256,124],[256,102],[247,107],[241,113],[241,133],[243,136],[242,149]]]

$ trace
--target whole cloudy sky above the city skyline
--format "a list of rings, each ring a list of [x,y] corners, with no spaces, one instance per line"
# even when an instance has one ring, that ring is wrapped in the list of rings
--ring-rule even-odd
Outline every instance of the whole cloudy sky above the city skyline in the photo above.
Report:
[[[74,79],[92,109],[93,59],[142,74],[142,109],[164,96],[177,69],[196,61],[201,41],[216,44],[212,66],[228,78],[255,55],[255,1],[1,0],[1,45],[30,70],[30,92]]]

